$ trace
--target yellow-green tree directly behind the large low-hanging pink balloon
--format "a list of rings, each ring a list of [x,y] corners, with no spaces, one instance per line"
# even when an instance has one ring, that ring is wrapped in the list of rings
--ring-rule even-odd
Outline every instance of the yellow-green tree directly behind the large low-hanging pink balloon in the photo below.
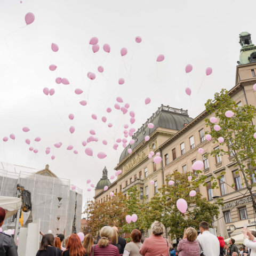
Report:
[[[173,180],[174,185],[163,185],[159,189],[159,193],[151,198],[149,213],[145,215],[147,223],[161,221],[173,239],[182,238],[184,229],[189,226],[197,228],[201,221],[211,223],[213,218],[218,218],[219,205],[222,205],[221,200],[208,202],[200,193],[190,197],[189,192],[195,190],[198,183],[189,182],[189,175],[174,171],[168,179]],[[187,201],[188,210],[185,214],[177,209],[176,202],[179,198]]]

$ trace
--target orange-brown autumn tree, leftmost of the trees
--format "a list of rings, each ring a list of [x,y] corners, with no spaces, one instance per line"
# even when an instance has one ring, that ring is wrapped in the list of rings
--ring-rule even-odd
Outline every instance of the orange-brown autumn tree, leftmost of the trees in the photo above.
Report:
[[[97,235],[104,225],[121,228],[127,214],[125,197],[118,193],[107,202],[88,202],[84,213],[87,213],[88,226],[93,236]]]

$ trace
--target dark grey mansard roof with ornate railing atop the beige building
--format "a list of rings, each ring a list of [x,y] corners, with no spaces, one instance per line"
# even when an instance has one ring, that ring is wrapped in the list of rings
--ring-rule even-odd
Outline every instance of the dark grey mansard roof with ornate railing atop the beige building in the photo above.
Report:
[[[192,120],[193,118],[188,116],[188,110],[161,105],[161,107],[157,109],[147,122],[142,124],[140,129],[134,133],[132,138],[135,140],[135,143],[127,146],[123,150],[119,158],[119,162],[129,155],[127,151],[129,148],[136,148],[143,140],[145,140],[147,135],[153,133],[158,127],[179,131],[185,126],[185,124],[190,123]],[[148,128],[149,123],[154,124],[153,129]]]

